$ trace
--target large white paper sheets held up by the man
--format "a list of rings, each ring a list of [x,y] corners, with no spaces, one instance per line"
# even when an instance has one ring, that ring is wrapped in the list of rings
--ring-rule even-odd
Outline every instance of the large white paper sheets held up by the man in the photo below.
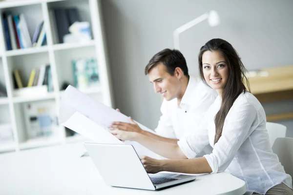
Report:
[[[108,127],[114,121],[129,122],[129,118],[99,101],[96,101],[69,85],[62,98],[59,111],[61,124],[96,143],[131,144],[138,155],[162,158],[133,141],[122,142],[108,132]],[[138,125],[152,132],[142,124]],[[153,132],[152,132],[153,133]]]

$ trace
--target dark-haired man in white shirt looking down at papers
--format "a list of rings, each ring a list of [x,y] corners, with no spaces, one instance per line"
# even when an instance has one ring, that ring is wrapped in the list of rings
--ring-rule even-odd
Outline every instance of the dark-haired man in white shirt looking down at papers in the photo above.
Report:
[[[145,74],[153,84],[154,91],[164,97],[162,116],[155,129],[157,135],[142,130],[131,118],[130,123],[114,122],[110,129],[138,132],[177,144],[185,133],[196,131],[217,93],[201,79],[188,75],[186,60],[178,50],[164,49],[154,55],[146,65]],[[208,150],[205,149],[205,152],[208,153]]]

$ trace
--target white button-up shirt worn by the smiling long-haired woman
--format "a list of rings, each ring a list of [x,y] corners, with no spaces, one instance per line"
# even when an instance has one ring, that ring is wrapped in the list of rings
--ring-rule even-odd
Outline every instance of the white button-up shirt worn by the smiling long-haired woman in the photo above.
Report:
[[[266,194],[281,182],[292,188],[291,176],[272,153],[265,111],[251,93],[242,93],[235,100],[225,119],[222,136],[214,144],[214,117],[221,102],[218,96],[198,129],[178,141],[182,152],[193,158],[209,143],[213,151],[204,157],[212,173],[230,172],[246,182],[251,194],[253,191]]]

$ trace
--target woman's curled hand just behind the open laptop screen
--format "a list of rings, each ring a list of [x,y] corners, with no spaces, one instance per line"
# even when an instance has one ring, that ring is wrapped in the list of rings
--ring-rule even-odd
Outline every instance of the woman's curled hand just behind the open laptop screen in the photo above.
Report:
[[[139,156],[139,158],[141,159],[147,173],[156,174],[163,171],[162,160],[154,159],[148,156]]]

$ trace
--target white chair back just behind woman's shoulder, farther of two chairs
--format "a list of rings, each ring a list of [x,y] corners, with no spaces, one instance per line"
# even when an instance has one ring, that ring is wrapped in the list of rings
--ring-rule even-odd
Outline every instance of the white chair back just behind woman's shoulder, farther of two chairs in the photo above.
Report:
[[[277,137],[285,137],[287,127],[279,123],[267,122],[267,130],[270,137],[271,146]]]

